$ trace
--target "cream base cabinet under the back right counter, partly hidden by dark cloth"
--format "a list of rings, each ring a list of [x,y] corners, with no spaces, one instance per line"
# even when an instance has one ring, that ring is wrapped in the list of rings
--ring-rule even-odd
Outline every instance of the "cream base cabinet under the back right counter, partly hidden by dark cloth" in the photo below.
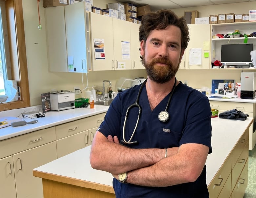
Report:
[[[211,108],[218,109],[219,113],[237,109],[249,117],[256,119],[256,105],[255,103],[244,103],[244,102],[223,102],[223,101],[212,101],[210,100]],[[253,124],[250,126],[249,132],[249,150],[252,150],[256,144],[256,133],[253,133]]]

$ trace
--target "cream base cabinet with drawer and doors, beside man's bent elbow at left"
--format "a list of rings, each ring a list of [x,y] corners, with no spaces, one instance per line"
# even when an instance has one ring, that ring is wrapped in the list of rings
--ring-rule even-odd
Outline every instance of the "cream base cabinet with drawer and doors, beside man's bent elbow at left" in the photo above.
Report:
[[[89,146],[105,114],[101,113],[56,126],[58,158]]]

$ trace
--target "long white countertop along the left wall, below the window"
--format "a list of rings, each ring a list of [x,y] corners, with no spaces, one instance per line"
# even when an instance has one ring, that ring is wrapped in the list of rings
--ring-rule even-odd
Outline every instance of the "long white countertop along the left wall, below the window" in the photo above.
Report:
[[[45,117],[35,118],[33,120],[38,120],[35,124],[26,124],[19,127],[4,127],[0,129],[0,140],[8,139],[18,135],[23,135],[25,133],[37,131],[40,129],[45,129],[48,127],[53,127],[66,122],[78,120],[81,118],[86,118],[99,113],[107,112],[109,106],[95,105],[94,109],[87,108],[76,108],[68,109],[63,111],[49,111],[45,114]],[[32,121],[30,118],[22,118],[26,122]]]

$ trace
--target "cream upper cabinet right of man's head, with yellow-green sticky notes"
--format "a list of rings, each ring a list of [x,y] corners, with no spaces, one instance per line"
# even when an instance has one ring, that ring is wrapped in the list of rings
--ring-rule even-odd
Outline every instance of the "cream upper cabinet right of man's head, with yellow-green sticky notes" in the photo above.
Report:
[[[210,24],[188,24],[190,41],[180,69],[210,69]],[[194,64],[195,60],[200,63]]]

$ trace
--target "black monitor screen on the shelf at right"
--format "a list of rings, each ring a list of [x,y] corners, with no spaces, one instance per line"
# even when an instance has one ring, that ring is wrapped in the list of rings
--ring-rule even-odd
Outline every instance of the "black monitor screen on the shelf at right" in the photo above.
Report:
[[[253,44],[223,44],[221,45],[221,62],[251,62],[251,54]]]

